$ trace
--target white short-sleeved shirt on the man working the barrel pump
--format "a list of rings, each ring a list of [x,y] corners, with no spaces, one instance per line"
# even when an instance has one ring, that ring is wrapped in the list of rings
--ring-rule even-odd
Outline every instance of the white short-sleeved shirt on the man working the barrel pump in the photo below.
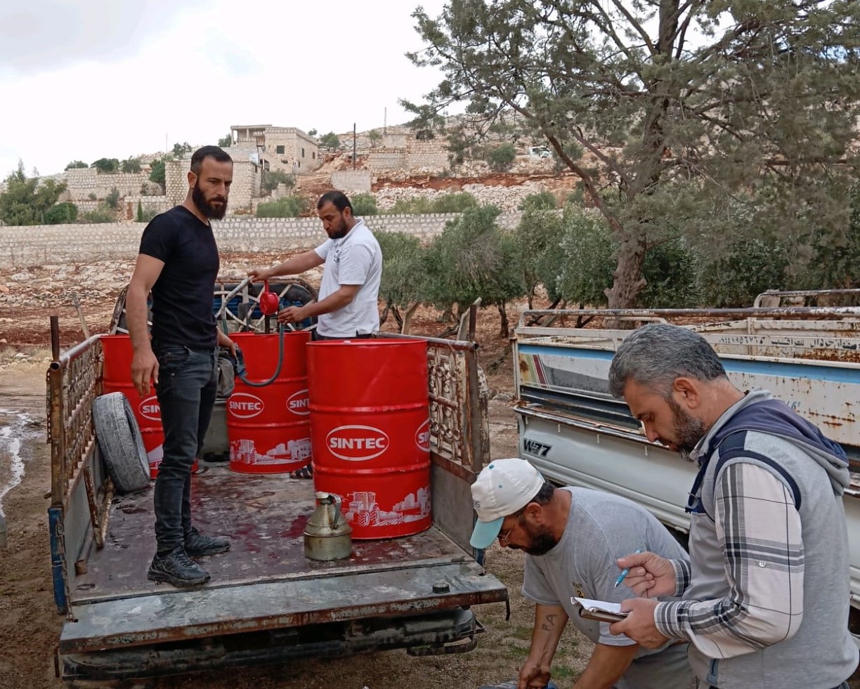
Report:
[[[316,254],[325,259],[319,300],[341,285],[360,285],[353,301],[342,309],[316,318],[316,331],[326,337],[354,337],[379,329],[379,280],[382,277],[382,250],[363,219],[346,237],[320,244]]]

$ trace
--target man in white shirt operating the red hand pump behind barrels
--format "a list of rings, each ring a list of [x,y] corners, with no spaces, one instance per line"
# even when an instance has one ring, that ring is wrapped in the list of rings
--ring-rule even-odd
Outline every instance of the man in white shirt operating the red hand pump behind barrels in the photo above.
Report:
[[[315,340],[367,337],[379,329],[377,298],[382,251],[364,220],[353,217],[346,194],[329,191],[316,202],[328,241],[272,268],[254,268],[249,276],[269,280],[304,273],[325,263],[319,299],[279,311],[280,323],[299,323],[316,316]]]

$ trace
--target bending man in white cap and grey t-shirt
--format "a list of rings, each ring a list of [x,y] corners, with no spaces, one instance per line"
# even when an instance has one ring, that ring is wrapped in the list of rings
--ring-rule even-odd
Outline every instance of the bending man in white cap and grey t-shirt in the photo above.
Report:
[[[572,596],[620,603],[633,594],[622,583],[618,557],[636,550],[686,560],[686,552],[652,514],[617,495],[556,489],[524,459],[497,459],[472,484],[478,521],[471,544],[498,538],[524,551],[523,594],[537,604],[531,649],[517,689],[543,688],[568,618],[595,646],[579,689],[689,689],[695,680],[686,643],[644,649],[613,637],[609,624],[581,618]]]

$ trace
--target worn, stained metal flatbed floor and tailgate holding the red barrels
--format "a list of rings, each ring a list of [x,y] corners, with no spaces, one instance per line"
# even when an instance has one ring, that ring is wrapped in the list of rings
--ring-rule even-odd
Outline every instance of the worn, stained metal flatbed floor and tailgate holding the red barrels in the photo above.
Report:
[[[507,592],[435,526],[386,540],[353,540],[345,560],[304,557],[313,482],[243,475],[201,463],[195,526],[231,538],[203,558],[212,581],[177,589],[146,579],[155,552],[152,487],[115,499],[104,547],[83,559],[71,590],[75,621],[60,654],[151,645],[350,619],[430,613],[505,600]],[[435,589],[435,590],[434,590]]]

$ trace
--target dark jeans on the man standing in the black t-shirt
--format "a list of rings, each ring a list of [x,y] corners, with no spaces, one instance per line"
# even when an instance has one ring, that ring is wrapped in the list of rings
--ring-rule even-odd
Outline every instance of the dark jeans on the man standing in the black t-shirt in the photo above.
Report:
[[[169,345],[158,360],[156,394],[164,428],[164,456],[153,503],[159,552],[185,542],[191,529],[191,467],[203,447],[218,384],[218,350]]]

